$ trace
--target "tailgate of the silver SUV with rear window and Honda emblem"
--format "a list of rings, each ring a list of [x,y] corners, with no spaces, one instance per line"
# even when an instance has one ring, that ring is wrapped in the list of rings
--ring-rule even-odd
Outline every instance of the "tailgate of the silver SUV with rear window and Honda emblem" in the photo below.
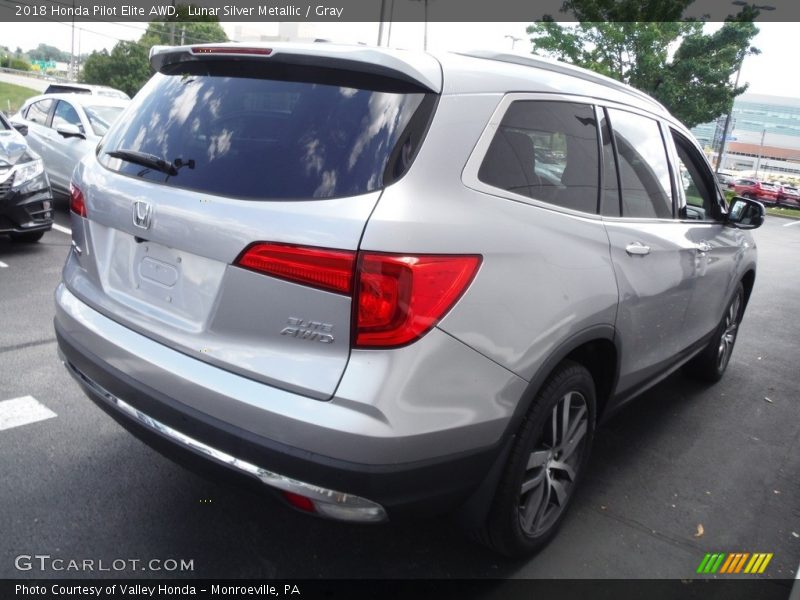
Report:
[[[349,356],[355,251],[435,94],[386,74],[212,58],[157,74],[76,172],[85,251],[65,281],[181,352],[328,398]]]

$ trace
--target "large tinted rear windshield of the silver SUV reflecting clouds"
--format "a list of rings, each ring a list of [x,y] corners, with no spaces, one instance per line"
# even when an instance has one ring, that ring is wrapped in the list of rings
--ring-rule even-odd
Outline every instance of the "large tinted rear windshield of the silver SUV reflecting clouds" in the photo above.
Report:
[[[435,105],[411,84],[344,71],[204,62],[156,75],[99,149],[107,168],[253,200],[352,196],[409,167]],[[175,175],[106,153],[143,152]]]

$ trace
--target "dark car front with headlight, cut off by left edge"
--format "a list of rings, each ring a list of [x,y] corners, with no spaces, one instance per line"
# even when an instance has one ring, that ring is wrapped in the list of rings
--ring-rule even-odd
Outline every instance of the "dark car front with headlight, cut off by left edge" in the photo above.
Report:
[[[0,113],[0,234],[39,241],[53,225],[52,201],[42,159]]]

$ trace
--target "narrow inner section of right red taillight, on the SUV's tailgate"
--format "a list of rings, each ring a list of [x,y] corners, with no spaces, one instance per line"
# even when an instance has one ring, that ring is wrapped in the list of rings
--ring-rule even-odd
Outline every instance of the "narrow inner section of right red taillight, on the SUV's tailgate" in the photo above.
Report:
[[[236,264],[329,292],[350,294],[355,252],[284,244],[253,244]]]

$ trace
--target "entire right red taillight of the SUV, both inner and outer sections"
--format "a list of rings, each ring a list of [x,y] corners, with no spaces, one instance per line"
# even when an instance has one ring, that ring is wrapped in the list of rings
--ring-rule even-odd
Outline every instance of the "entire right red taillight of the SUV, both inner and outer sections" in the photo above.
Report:
[[[257,243],[234,264],[352,296],[353,345],[390,348],[410,344],[430,331],[474,279],[481,257],[355,253]]]

